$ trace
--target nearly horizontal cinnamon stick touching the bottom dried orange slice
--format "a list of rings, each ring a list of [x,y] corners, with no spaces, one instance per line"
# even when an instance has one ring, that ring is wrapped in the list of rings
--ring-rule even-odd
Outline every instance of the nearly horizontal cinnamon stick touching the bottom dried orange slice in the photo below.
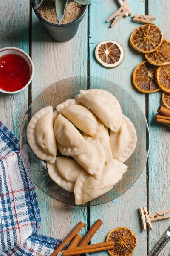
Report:
[[[91,245],[86,245],[82,247],[77,247],[71,250],[63,250],[62,254],[63,256],[74,256],[74,255],[79,255],[84,253],[94,253],[94,252],[100,252],[103,250],[111,250],[113,248],[114,248],[114,241],[108,241],[108,242],[103,242],[99,244],[91,244]]]

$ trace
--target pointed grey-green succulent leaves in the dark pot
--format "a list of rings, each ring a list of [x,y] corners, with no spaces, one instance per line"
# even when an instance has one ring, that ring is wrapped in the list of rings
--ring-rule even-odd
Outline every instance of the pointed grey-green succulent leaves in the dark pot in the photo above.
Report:
[[[61,24],[65,9],[68,5],[68,2],[75,2],[81,5],[91,4],[89,0],[51,0],[55,2],[57,21]],[[43,2],[43,0],[30,0],[31,3],[34,3],[34,9],[37,9]]]

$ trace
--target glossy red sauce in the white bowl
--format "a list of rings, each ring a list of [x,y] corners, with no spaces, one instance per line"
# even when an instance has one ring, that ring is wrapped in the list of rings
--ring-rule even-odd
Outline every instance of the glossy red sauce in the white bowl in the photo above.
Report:
[[[20,55],[7,54],[0,57],[0,88],[8,92],[22,89],[31,77],[27,61]]]

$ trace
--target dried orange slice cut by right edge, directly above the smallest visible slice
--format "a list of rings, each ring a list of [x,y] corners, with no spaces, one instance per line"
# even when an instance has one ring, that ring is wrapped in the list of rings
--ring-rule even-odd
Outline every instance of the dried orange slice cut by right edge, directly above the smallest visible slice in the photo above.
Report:
[[[158,67],[156,70],[156,81],[159,88],[170,94],[170,65]]]

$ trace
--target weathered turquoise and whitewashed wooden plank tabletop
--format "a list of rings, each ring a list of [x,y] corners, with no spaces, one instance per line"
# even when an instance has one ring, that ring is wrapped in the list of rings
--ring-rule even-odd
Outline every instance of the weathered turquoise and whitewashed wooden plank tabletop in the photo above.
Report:
[[[138,208],[146,205],[150,213],[170,208],[170,130],[153,121],[160,105],[161,93],[140,94],[132,85],[133,69],[144,60],[144,55],[136,54],[129,46],[129,36],[139,24],[132,23],[132,18],[127,17],[111,29],[105,21],[119,8],[117,1],[91,2],[77,35],[71,41],[57,43],[49,38],[28,0],[0,0],[0,48],[14,46],[25,50],[31,56],[35,68],[32,84],[27,90],[14,95],[0,93],[0,120],[19,137],[24,113],[32,100],[49,85],[71,76],[102,77],[129,91],[146,113],[150,128],[150,154],[142,175],[121,197],[90,209],[59,203],[37,188],[42,217],[40,233],[64,239],[78,221],[87,224],[87,230],[100,218],[104,224],[91,243],[104,241],[109,230],[125,226],[132,229],[138,239],[133,255],[146,256],[170,225],[169,220],[157,221],[153,223],[153,230],[142,232],[138,214]],[[170,39],[167,0],[128,0],[128,3],[133,14],[156,16],[156,25],[163,30],[164,37]],[[96,45],[107,39],[118,41],[125,49],[125,60],[113,70],[101,67],[94,59]],[[170,245],[164,248],[160,256],[170,256]]]

